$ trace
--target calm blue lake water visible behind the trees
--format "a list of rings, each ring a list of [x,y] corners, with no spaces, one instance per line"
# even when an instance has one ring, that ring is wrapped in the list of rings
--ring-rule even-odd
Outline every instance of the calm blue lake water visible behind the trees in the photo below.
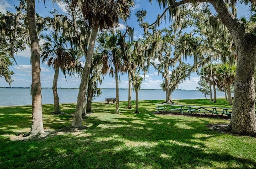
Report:
[[[60,103],[76,103],[78,89],[58,89]],[[115,98],[115,89],[102,89],[102,95],[93,102],[104,102],[105,98]],[[217,92],[217,97],[225,97],[224,92]],[[198,90],[175,90],[172,99],[204,98]],[[119,90],[119,100],[128,100],[128,89]],[[135,92],[132,91],[132,100],[135,100]],[[162,90],[140,90],[139,100],[165,100],[165,92]],[[53,104],[52,89],[42,89],[42,104]],[[0,106],[31,105],[32,96],[29,88],[0,88]]]

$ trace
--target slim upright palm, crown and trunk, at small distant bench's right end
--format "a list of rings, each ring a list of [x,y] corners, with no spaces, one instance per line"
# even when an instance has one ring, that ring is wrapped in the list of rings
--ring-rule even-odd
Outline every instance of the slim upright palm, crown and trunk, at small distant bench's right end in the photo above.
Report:
[[[116,80],[116,113],[119,113],[119,79],[118,73],[124,73],[126,71],[127,63],[126,57],[122,54],[121,41],[125,38],[125,35],[121,31],[111,31],[109,34],[104,32],[98,38],[99,53],[96,54],[96,60],[103,64],[102,74],[109,73],[111,77],[115,77]]]

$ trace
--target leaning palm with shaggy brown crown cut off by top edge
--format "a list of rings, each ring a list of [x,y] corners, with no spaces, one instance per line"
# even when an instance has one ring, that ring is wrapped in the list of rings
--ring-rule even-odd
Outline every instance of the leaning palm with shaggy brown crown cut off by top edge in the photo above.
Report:
[[[89,26],[92,28],[92,32],[88,51],[86,53],[86,62],[82,73],[72,127],[82,126],[82,110],[98,29],[114,28],[119,23],[120,18],[127,20],[130,16],[130,7],[134,5],[133,0],[81,0],[80,3],[81,5],[79,6],[82,8],[84,18],[88,21]],[[72,5],[78,5],[78,0],[72,0]]]

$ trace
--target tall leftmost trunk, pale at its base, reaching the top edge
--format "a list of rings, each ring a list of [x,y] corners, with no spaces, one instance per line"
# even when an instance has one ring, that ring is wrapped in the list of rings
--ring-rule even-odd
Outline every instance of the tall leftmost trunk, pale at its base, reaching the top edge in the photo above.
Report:
[[[44,134],[42,115],[42,94],[40,80],[40,53],[38,33],[36,29],[35,0],[27,0],[28,30],[31,43],[31,67],[32,67],[32,126],[31,135]]]

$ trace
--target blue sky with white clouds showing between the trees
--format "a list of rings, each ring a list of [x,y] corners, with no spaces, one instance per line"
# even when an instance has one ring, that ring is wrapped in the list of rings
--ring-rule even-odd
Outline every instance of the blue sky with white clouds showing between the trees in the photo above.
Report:
[[[146,10],[148,12],[145,21],[152,23],[156,20],[157,14],[161,14],[162,10],[159,8],[158,4],[153,2],[150,4],[148,0],[136,0],[136,5],[132,9],[131,18],[128,20],[127,25],[135,28],[134,39],[137,40],[143,36],[143,29],[139,28],[137,18],[135,13],[138,10]],[[0,0],[0,12],[5,13],[6,10],[10,12],[14,11],[14,5],[18,5],[17,0]],[[59,11],[65,12],[64,4],[52,4],[51,0],[46,0],[46,8],[44,7],[43,2],[36,0],[36,12],[41,16],[49,15],[49,11],[52,11],[54,8]],[[244,6],[238,7],[238,16],[244,15],[248,16],[249,12]],[[166,22],[166,26],[168,26]],[[163,28],[165,24],[162,24],[160,28]],[[120,24],[118,29],[126,29],[124,24]],[[14,64],[10,67],[14,71],[12,87],[29,87],[31,85],[31,64],[30,64],[30,49],[27,48],[24,51],[20,51],[16,55],[17,65]],[[46,64],[41,64],[41,85],[42,87],[52,87],[52,80],[54,76],[54,70],[49,68]],[[121,82],[119,84],[120,88],[128,88],[128,76],[122,75],[120,77]],[[196,86],[200,77],[196,74],[192,74],[190,78],[186,79],[179,85],[179,88],[186,90],[196,90]],[[147,89],[160,89],[160,83],[162,83],[162,75],[158,75],[157,71],[153,68],[147,73],[145,80],[142,82],[142,88]],[[65,79],[64,75],[60,73],[58,79],[58,87],[79,87],[80,79],[76,77],[68,77]],[[8,87],[4,78],[0,78],[0,86]],[[100,86],[102,88],[115,88],[115,79],[109,77],[108,75],[104,77],[103,84]]]

